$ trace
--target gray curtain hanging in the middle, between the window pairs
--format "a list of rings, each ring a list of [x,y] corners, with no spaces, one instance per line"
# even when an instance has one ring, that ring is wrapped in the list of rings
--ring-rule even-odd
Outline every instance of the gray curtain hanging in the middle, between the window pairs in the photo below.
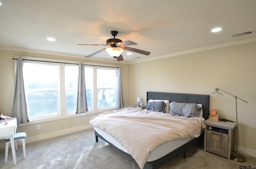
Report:
[[[88,112],[86,101],[86,89],[84,79],[84,63],[78,64],[78,85],[77,85],[76,114]]]

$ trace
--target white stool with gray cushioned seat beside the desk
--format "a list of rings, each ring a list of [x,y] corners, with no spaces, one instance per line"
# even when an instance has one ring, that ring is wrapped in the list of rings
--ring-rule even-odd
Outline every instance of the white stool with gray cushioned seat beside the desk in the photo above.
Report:
[[[13,135],[14,143],[15,143],[15,149],[18,149],[17,142],[16,141],[22,141],[22,147],[23,147],[23,155],[24,158],[26,158],[26,145],[25,145],[25,138],[27,137],[25,132],[16,133]],[[8,149],[9,149],[9,143],[10,139],[5,139],[5,157],[4,162],[7,163],[8,159]]]

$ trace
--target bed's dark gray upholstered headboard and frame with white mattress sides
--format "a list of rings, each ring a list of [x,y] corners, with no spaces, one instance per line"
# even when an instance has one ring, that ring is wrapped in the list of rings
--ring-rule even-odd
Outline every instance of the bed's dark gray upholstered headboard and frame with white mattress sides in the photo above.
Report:
[[[182,94],[182,93],[167,93],[167,92],[147,92],[147,102],[149,100],[168,100],[171,102],[179,102],[179,103],[195,103],[195,104],[202,104],[202,117],[206,120],[208,119],[208,115],[210,112],[210,96],[203,95],[203,94]],[[122,110],[122,109],[121,109]],[[126,110],[123,110],[126,111]],[[137,111],[137,110],[128,110],[127,111]],[[142,110],[138,109],[138,112]],[[153,113],[154,112],[150,112]],[[171,116],[170,114],[161,114],[162,116],[167,117]],[[150,115],[152,116],[152,115]],[[140,117],[139,117],[140,118]],[[108,120],[108,119],[107,119]],[[91,123],[92,124],[92,123]],[[94,125],[93,125],[94,126]],[[152,129],[153,130],[153,129]],[[162,165],[170,161],[170,159],[184,153],[189,147],[193,146],[194,144],[198,143],[204,138],[204,130],[200,130],[200,133],[196,136],[196,138],[183,138],[183,139],[174,139],[172,141],[166,141],[165,143],[157,146],[150,151],[149,155],[147,156],[147,160],[144,166],[140,164],[140,168],[144,169],[157,169],[160,168]],[[114,138],[114,134],[106,132],[104,130],[100,130],[99,128],[94,126],[94,133],[96,136],[96,142],[98,142],[98,138],[106,141],[113,147],[116,147],[122,153],[128,155],[129,157],[137,160],[134,158],[134,154],[128,153],[130,149],[126,149],[120,143],[121,141],[117,141],[118,139]],[[112,136],[113,135],[113,136]],[[124,134],[125,135],[125,134]],[[127,137],[127,136],[126,136]],[[131,137],[132,136],[128,136]],[[136,136],[138,137],[138,136]],[[142,144],[142,143],[141,143]],[[124,145],[124,144],[123,144]],[[138,144],[139,145],[139,144]],[[129,151],[128,151],[129,150]],[[130,155],[132,154],[132,155]]]

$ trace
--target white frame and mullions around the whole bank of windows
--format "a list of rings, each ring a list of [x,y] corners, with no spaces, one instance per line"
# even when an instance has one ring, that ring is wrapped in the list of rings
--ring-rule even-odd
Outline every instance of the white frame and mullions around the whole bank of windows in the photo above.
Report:
[[[29,124],[49,122],[49,121],[66,119],[66,118],[73,118],[73,117],[78,117],[78,116],[86,116],[86,115],[90,115],[90,114],[98,114],[98,113],[105,112],[105,111],[115,110],[115,107],[98,109],[97,95],[95,95],[95,92],[97,94],[97,88],[94,87],[95,84],[97,84],[97,83],[94,83],[94,86],[91,89],[92,90],[91,96],[93,97],[93,98],[91,98],[92,110],[89,110],[88,112],[82,113],[82,114],[75,114],[75,112],[67,114],[66,113],[66,90],[65,90],[65,65],[70,65],[70,64],[77,64],[78,65],[79,62],[58,60],[58,59],[37,58],[37,57],[22,57],[22,58],[24,59],[24,62],[26,62],[26,63],[42,62],[42,64],[44,64],[44,65],[50,65],[50,64],[59,65],[59,70],[58,70],[59,71],[59,75],[58,75],[58,82],[59,82],[58,90],[59,90],[59,93],[57,94],[57,101],[58,101],[57,116],[49,116],[49,117],[46,116],[46,117],[36,118],[36,119],[33,118],[33,119],[30,119]],[[45,62],[45,63],[43,63],[43,62]],[[17,63],[17,61],[15,62],[15,68],[16,68],[16,63]],[[96,67],[101,68],[101,69],[102,69],[102,67],[106,67],[108,69],[109,68],[118,69],[118,67],[119,67],[119,65],[87,63],[87,62],[84,62],[84,66],[94,68],[93,69],[93,71],[94,71],[94,76],[93,76],[94,82],[95,82],[95,80],[97,80],[97,76],[96,76],[97,72],[95,72],[97,70],[97,69],[95,69]],[[14,71],[14,72],[16,73],[16,71]],[[96,85],[96,87],[97,87],[97,85]],[[22,125],[27,125],[27,124],[22,124]]]

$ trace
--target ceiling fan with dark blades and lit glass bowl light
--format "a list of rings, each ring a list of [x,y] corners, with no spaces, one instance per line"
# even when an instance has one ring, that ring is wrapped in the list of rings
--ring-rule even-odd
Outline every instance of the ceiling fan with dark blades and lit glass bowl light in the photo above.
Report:
[[[112,57],[114,57],[115,59],[117,59],[117,61],[123,61],[124,58],[122,57],[122,52],[124,50],[127,50],[127,51],[132,51],[132,52],[136,52],[136,53],[140,53],[140,54],[143,54],[143,55],[149,55],[150,52],[148,51],[143,51],[143,50],[140,50],[140,49],[135,49],[135,48],[132,48],[132,47],[127,47],[125,45],[137,45],[137,43],[133,42],[133,41],[122,41],[121,39],[116,39],[116,35],[118,34],[118,31],[110,31],[111,35],[114,36],[114,38],[111,38],[111,39],[107,39],[106,41],[106,45],[103,45],[103,46],[109,46],[108,48],[104,48],[104,49],[101,49],[99,51],[96,51],[88,56],[85,56],[86,58],[87,57],[92,57],[104,50],[106,50],[108,52],[108,54]],[[78,44],[78,45],[94,45],[94,46],[98,46],[100,44]]]

